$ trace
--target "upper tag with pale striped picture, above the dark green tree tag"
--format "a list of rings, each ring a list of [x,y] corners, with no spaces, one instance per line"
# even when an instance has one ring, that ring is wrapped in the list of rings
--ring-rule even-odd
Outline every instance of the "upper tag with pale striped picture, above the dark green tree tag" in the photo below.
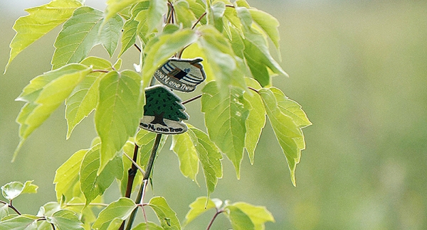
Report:
[[[201,57],[195,59],[169,59],[154,72],[154,77],[171,89],[193,92],[206,79]]]

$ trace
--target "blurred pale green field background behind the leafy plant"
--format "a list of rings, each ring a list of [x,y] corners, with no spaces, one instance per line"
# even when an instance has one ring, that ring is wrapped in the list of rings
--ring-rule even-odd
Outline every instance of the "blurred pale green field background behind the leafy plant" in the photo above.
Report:
[[[0,1],[0,66],[9,57],[12,26],[23,9],[48,1]],[[87,4],[104,9],[104,1]],[[313,126],[304,129],[307,149],[297,165],[297,187],[267,125],[255,164],[243,160],[241,180],[223,160],[224,178],[212,197],[268,207],[276,222],[267,229],[427,229],[427,2],[424,1],[249,1],[280,21],[282,65],[290,78],[274,84],[302,104]],[[68,141],[61,106],[21,149],[14,102],[28,81],[50,70],[58,29],[24,50],[0,76],[0,185],[34,180],[38,194],[14,201],[22,212],[55,199],[56,168],[95,136],[93,118]],[[105,51],[95,48],[93,54]],[[125,56],[132,68],[137,52]],[[185,99],[188,95],[182,95]],[[189,104],[191,122],[199,102]],[[166,197],[183,220],[188,204],[205,195],[179,172],[167,147],[154,168],[154,192]],[[112,190],[115,190],[113,188]],[[107,192],[107,202],[117,199]],[[188,229],[205,229],[213,213]],[[220,217],[213,229],[231,226]]]

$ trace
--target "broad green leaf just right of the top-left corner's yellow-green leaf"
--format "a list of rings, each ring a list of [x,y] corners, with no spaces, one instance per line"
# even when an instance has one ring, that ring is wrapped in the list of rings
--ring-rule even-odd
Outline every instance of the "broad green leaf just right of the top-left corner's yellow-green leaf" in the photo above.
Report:
[[[115,47],[112,43],[117,43],[119,39],[117,30],[121,29],[120,21],[122,19],[120,16],[115,16],[105,21],[104,28],[110,28],[111,31],[100,30],[103,20],[102,11],[89,6],[76,9],[73,16],[64,23],[56,38],[52,69],[82,61],[88,56],[93,46],[100,43],[107,48],[109,53],[114,52]],[[112,50],[113,48],[114,50]]]

